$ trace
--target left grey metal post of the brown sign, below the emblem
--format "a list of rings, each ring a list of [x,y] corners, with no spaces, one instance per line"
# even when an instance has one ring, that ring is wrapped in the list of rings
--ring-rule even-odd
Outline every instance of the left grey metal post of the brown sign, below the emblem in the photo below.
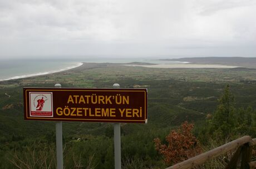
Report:
[[[55,84],[55,88],[61,88],[61,84]],[[62,152],[62,122],[56,122],[56,156],[57,169],[63,169],[63,152]]]

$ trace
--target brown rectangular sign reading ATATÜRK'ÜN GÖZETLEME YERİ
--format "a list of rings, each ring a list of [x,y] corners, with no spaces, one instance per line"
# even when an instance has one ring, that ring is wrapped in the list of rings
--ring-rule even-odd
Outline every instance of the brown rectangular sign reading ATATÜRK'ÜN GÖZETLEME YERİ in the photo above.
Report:
[[[24,88],[24,119],[147,122],[146,89]]]

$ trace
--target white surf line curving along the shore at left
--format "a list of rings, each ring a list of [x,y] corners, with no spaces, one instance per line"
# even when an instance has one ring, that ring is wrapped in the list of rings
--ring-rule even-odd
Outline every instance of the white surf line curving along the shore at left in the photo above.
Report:
[[[28,77],[32,77],[32,76],[39,76],[39,75],[46,75],[46,74],[56,73],[56,72],[60,72],[60,71],[65,71],[65,70],[77,68],[77,67],[81,66],[82,64],[83,64],[83,63],[77,63],[77,64],[74,65],[74,66],[68,66],[68,67],[66,67],[66,68],[62,68],[62,69],[58,69],[58,70],[51,70],[51,71],[45,71],[45,72],[34,73],[34,74],[28,74],[28,75],[21,75],[21,76],[13,76],[13,77],[8,78],[8,79],[0,79],[0,81],[12,80],[12,79],[21,79],[21,78],[28,78]]]

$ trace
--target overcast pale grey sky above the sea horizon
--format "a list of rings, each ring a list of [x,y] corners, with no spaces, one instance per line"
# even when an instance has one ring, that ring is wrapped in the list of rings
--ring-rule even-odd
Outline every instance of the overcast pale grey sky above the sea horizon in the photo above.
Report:
[[[0,58],[256,57],[255,0],[0,0]]]

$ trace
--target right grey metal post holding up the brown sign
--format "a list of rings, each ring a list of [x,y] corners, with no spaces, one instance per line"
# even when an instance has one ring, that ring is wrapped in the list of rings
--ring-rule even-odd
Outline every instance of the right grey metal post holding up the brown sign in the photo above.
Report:
[[[119,84],[113,85],[114,89],[119,89]],[[115,169],[121,169],[121,131],[120,123],[114,123],[114,149],[115,149]]]

